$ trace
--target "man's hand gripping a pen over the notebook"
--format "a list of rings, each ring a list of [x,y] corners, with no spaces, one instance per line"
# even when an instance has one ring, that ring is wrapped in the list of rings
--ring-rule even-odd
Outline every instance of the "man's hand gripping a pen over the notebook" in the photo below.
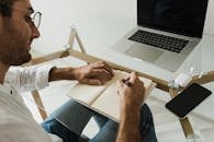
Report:
[[[136,72],[117,82],[117,94],[121,98],[122,111],[139,110],[144,102],[145,87]]]

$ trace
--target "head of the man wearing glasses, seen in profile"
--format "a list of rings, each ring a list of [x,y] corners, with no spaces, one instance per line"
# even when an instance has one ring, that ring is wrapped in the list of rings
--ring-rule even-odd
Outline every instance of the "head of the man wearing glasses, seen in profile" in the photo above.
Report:
[[[40,36],[30,0],[0,0],[0,62],[20,66],[31,60],[30,49]]]

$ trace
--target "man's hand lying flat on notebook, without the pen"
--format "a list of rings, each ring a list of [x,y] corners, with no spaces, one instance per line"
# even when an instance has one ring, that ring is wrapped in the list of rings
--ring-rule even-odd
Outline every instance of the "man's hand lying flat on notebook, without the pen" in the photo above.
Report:
[[[103,61],[76,68],[74,74],[80,83],[90,85],[102,85],[113,78],[111,67]]]

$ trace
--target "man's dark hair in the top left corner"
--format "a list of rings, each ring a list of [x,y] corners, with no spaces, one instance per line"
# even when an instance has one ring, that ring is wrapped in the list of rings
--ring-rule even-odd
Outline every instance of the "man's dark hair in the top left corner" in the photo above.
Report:
[[[0,0],[0,14],[3,16],[11,16],[12,5],[18,0]]]

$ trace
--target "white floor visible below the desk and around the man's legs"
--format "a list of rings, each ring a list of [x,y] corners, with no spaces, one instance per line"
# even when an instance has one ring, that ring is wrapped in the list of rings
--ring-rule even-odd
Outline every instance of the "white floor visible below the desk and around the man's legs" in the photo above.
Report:
[[[76,66],[77,64],[78,63],[76,62]],[[75,83],[77,82],[69,82],[69,81],[54,82],[50,83],[48,87],[40,91],[47,114],[52,113],[54,109],[56,109],[58,106],[64,104],[67,99],[69,99],[66,95],[63,94],[66,94],[68,88],[71,85],[75,85]],[[23,93],[22,95],[26,105],[31,109],[34,118],[36,119],[36,121],[41,122],[42,118],[37,111],[33,98],[31,97],[31,94]],[[172,142],[172,141],[188,142],[184,138],[178,118],[165,108],[165,104],[169,99],[170,99],[169,95],[165,92],[161,92],[160,90],[154,90],[148,96],[148,98],[146,99],[146,103],[149,105],[151,113],[154,115],[157,138],[159,142]],[[212,100],[214,99],[212,98]],[[205,103],[205,105],[209,103],[211,103],[211,100]],[[200,111],[201,114],[198,113],[196,110]],[[210,116],[204,117],[207,115],[205,110],[203,111],[201,107],[196,110],[189,115],[190,116],[189,119],[193,126],[194,132],[196,133],[196,135],[201,137],[201,142],[202,140],[203,142],[213,142],[214,137],[211,133],[214,133],[214,119],[213,119],[214,113],[210,111]],[[92,138],[98,131],[99,131],[98,126],[95,126],[94,120],[91,119],[87,128],[85,129],[83,134],[87,135],[88,138]]]

